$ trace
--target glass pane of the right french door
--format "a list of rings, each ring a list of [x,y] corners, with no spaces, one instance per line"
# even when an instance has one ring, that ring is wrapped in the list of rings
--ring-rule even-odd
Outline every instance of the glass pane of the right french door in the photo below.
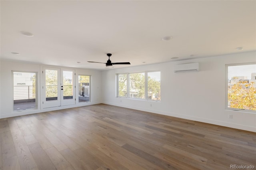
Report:
[[[63,71],[63,99],[73,99],[73,71]]]

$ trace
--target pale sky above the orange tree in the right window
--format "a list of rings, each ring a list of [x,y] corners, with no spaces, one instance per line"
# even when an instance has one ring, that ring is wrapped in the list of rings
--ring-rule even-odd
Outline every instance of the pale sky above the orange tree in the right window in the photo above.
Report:
[[[228,66],[228,79],[234,76],[247,76],[250,80],[252,73],[256,73],[256,64]]]

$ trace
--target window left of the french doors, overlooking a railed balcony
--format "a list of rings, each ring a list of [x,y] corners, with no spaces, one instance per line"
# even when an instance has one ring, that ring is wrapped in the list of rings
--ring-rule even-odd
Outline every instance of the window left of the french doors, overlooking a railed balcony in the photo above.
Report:
[[[37,108],[37,73],[12,71],[14,111]],[[30,81],[28,81],[30,80]],[[26,83],[25,83],[26,82]]]

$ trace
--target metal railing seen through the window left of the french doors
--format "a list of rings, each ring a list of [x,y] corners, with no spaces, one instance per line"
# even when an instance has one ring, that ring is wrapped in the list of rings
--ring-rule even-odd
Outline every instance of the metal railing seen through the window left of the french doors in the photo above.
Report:
[[[14,86],[14,100],[36,99],[36,86]]]

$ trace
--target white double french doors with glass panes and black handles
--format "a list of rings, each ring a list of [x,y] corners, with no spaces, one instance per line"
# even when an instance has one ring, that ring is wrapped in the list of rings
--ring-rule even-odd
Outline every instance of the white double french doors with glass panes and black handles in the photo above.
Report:
[[[43,108],[75,104],[75,71],[43,67]]]

